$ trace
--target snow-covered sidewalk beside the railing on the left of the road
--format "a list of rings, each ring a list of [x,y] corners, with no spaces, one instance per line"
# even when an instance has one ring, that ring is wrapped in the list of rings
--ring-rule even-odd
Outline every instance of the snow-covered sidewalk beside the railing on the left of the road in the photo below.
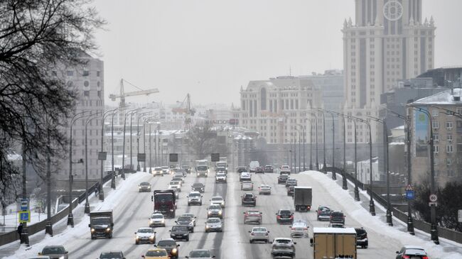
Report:
[[[117,177],[116,178],[116,188],[119,187],[119,183],[122,180],[122,178]],[[113,191],[111,189],[111,181],[106,182],[103,185],[104,189],[104,199],[107,199],[108,195],[111,194]],[[88,195],[88,202],[90,203],[90,209],[93,207],[92,204],[97,204],[100,202],[100,199],[98,197],[95,197],[95,193],[92,192]],[[78,204],[73,210],[72,214],[74,214],[74,225],[77,225],[82,221],[83,217],[85,216],[85,201],[81,202]],[[41,216],[41,219],[46,219],[46,214]],[[65,218],[61,219],[57,224],[53,225],[53,236],[58,235],[59,233],[63,233],[68,229],[68,217],[66,216]],[[36,243],[39,243],[43,241],[43,239],[46,237],[45,231],[41,231],[39,233],[36,233],[32,236],[29,236],[29,246],[33,246]],[[19,241],[15,241],[9,244],[6,244],[4,246],[0,247],[0,255],[1,258],[4,258],[9,255],[14,255],[16,250],[18,250],[21,247],[21,244]]]

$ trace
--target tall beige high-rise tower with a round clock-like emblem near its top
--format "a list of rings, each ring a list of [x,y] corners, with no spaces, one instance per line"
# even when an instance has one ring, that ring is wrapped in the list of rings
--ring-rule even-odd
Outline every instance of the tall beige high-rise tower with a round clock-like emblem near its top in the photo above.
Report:
[[[355,21],[345,20],[342,30],[344,114],[377,117],[380,94],[433,68],[434,20],[421,16],[421,0],[356,0],[355,7]],[[358,125],[358,142],[365,143],[367,127]],[[353,123],[347,128],[352,143]]]

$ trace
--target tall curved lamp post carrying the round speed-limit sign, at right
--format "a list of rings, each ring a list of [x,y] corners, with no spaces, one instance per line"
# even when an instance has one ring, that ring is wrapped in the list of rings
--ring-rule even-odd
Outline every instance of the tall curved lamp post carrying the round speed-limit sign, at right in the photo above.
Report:
[[[426,111],[425,109],[421,109],[419,107],[414,107],[412,106],[413,109],[417,109],[421,113],[426,114],[426,116],[429,118],[429,126],[430,126],[430,194],[435,194],[436,193],[436,187],[435,187],[435,165],[434,165],[434,143],[433,143],[433,126],[431,125],[433,119],[431,118],[431,114],[429,111]],[[431,226],[430,226],[430,236],[431,240],[436,243],[436,245],[439,244],[439,238],[438,238],[438,226],[436,226],[436,206],[430,206],[430,211],[431,211]]]

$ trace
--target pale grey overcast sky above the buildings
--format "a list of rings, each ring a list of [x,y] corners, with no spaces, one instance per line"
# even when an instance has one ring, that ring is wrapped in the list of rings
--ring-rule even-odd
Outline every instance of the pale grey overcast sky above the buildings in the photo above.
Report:
[[[436,24],[435,66],[462,65],[462,1],[424,0]],[[159,94],[127,101],[239,104],[241,85],[343,69],[343,20],[354,0],[97,0],[106,104],[127,79]],[[125,91],[135,91],[125,85]]]

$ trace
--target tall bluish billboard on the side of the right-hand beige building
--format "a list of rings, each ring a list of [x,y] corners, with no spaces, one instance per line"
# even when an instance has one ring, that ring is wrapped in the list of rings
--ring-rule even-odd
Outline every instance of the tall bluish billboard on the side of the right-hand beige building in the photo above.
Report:
[[[425,108],[421,108],[428,111]],[[416,143],[415,154],[425,158],[429,155],[429,118],[424,112],[414,111],[414,138]]]

